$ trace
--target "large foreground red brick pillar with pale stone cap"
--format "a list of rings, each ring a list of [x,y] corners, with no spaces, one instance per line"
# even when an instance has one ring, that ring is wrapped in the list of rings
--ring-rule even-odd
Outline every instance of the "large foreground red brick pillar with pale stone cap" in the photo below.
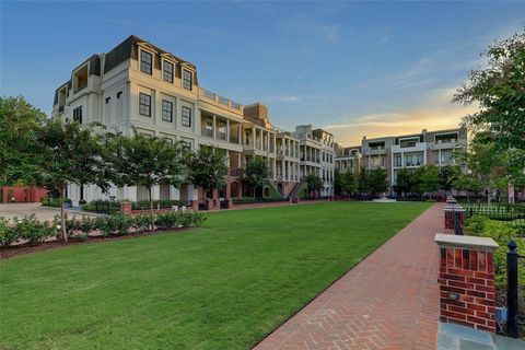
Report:
[[[495,332],[492,238],[438,233],[440,320]]]

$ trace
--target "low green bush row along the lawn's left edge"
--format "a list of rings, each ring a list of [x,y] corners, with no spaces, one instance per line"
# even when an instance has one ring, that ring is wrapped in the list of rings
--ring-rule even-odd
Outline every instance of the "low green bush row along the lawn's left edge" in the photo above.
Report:
[[[200,212],[166,212],[154,217],[158,229],[178,229],[200,226],[206,217]],[[46,238],[59,233],[57,226],[60,219],[55,217],[52,221],[38,221],[36,217],[30,215],[23,219],[14,218],[8,220],[0,218],[0,246],[7,247],[14,242],[22,240],[30,244],[38,244]],[[67,234],[69,237],[88,240],[92,232],[100,232],[104,237],[114,235],[127,235],[137,231],[150,230],[151,218],[149,215],[124,215],[113,214],[106,217],[82,217],[82,219],[68,219],[66,221]],[[57,235],[58,236],[58,235]]]

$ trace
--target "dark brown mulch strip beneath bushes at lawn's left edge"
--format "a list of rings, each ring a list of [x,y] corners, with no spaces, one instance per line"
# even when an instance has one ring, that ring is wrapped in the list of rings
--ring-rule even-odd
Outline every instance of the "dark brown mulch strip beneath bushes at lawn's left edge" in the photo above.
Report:
[[[73,236],[68,238],[67,243],[63,241],[47,241],[36,245],[24,243],[24,244],[9,246],[7,248],[0,249],[0,260],[13,258],[20,255],[70,247],[79,244],[93,244],[93,243],[128,240],[128,238],[136,238],[136,237],[145,237],[145,236],[151,236],[151,235],[156,235],[156,234],[162,234],[167,232],[184,232],[184,231],[190,231],[190,230],[195,230],[195,228],[158,229],[155,231],[139,231],[139,232],[132,232],[126,235],[113,235],[107,237],[103,237],[102,235],[96,235],[96,236],[90,236],[89,240],[81,240],[79,237]]]

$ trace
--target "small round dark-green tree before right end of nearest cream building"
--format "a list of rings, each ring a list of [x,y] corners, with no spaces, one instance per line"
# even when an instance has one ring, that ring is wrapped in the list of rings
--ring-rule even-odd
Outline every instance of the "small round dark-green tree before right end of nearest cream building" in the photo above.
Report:
[[[187,179],[195,186],[208,190],[225,184],[228,173],[226,154],[222,150],[201,145],[197,152],[188,152],[185,158]]]

